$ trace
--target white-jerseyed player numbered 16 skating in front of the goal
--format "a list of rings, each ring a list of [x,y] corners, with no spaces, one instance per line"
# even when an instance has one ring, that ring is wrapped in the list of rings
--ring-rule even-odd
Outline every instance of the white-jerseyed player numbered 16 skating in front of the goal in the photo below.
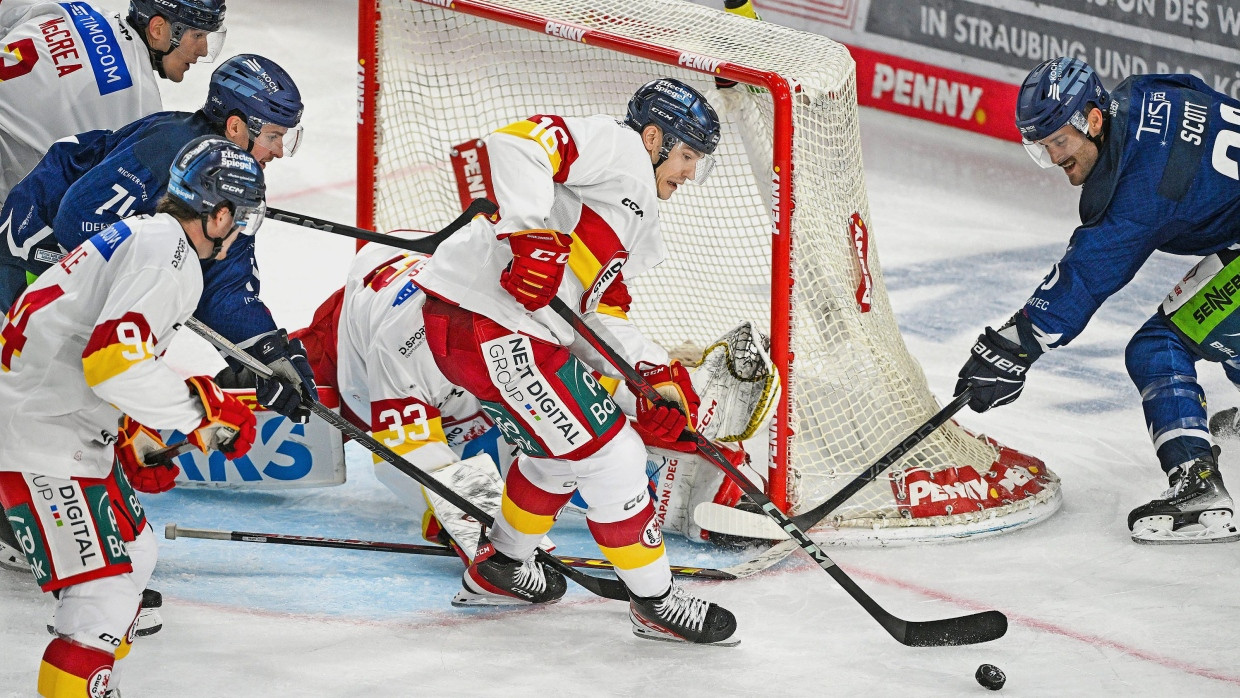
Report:
[[[502,516],[455,603],[558,600],[564,578],[533,553],[575,490],[630,590],[636,635],[737,642],[729,611],[672,581],[642,438],[594,378],[615,369],[547,307],[559,296],[606,322],[621,353],[677,403],[637,400],[637,429],[676,441],[698,398],[688,371],[627,320],[625,279],[662,262],[658,200],[706,180],[718,141],[706,99],[666,78],[642,86],[622,121],[537,114],[486,138],[497,221],[475,219],[413,276],[430,296],[423,317],[440,371],[522,451],[505,479]]]

